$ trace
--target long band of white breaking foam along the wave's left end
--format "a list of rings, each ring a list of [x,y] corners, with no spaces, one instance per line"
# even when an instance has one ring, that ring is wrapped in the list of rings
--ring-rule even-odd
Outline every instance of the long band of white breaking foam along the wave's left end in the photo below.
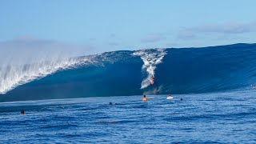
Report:
[[[91,63],[89,58],[66,58],[2,67],[0,68],[0,94],[6,94],[17,86],[46,77],[58,70],[70,69],[86,63]]]

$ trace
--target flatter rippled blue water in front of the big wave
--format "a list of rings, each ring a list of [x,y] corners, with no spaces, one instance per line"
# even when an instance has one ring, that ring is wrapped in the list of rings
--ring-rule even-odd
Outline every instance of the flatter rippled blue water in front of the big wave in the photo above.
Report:
[[[174,100],[148,95],[147,102],[141,95],[2,102],[0,142],[255,143],[255,95],[246,89]]]

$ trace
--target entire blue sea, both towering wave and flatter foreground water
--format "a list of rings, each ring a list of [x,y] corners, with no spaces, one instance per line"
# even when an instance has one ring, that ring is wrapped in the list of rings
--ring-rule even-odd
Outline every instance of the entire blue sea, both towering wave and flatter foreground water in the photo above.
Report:
[[[2,63],[0,143],[256,143],[256,44]]]

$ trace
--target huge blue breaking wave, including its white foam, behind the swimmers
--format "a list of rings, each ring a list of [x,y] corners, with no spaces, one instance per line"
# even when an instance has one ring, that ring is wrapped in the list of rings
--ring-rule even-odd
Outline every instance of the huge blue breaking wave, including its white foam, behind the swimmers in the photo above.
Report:
[[[0,70],[0,102],[218,92],[255,84],[256,44],[114,51]]]

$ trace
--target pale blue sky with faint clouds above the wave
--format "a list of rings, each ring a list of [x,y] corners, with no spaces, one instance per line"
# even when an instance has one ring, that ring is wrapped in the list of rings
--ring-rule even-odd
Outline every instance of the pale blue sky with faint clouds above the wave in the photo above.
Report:
[[[255,43],[255,6],[255,0],[2,1],[0,52],[94,54]]]

